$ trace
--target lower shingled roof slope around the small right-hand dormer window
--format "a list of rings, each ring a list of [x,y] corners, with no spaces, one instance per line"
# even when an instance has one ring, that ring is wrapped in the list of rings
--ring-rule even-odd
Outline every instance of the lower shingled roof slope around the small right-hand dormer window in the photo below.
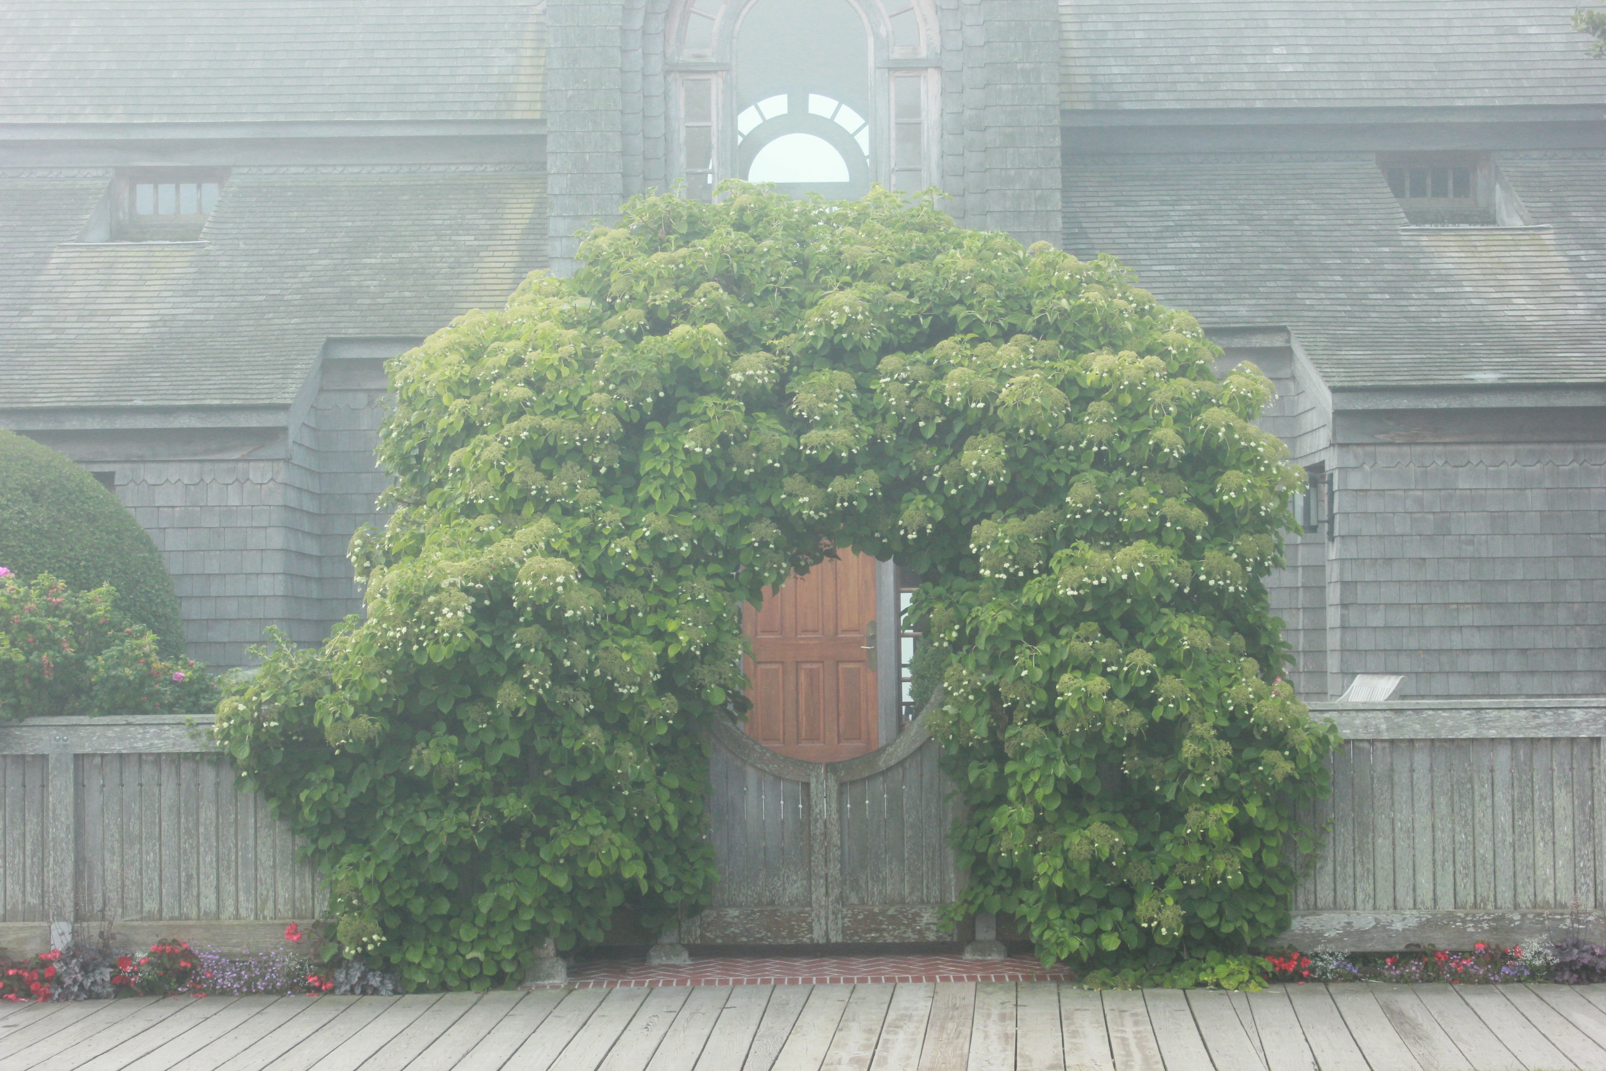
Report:
[[[1412,228],[1372,154],[1070,161],[1066,249],[1333,387],[1606,381],[1606,154],[1498,154],[1531,228]]]

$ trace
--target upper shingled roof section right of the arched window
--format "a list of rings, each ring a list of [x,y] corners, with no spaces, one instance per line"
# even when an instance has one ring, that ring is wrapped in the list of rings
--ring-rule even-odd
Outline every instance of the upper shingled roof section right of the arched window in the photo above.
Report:
[[[1580,0],[1060,0],[1065,108],[1601,104]]]

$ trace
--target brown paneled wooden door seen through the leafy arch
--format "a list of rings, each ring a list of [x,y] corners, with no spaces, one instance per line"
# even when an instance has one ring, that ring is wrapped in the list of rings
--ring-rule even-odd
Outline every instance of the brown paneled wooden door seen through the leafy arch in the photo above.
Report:
[[[781,755],[835,763],[877,748],[875,559],[838,551],[742,607],[753,644],[747,735]]]

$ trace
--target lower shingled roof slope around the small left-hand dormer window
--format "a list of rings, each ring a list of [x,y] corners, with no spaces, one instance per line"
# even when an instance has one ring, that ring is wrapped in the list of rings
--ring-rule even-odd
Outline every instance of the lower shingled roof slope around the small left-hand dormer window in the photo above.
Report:
[[[328,337],[426,336],[546,260],[546,175],[238,167],[198,242],[77,242],[109,170],[0,169],[0,408],[281,405]]]

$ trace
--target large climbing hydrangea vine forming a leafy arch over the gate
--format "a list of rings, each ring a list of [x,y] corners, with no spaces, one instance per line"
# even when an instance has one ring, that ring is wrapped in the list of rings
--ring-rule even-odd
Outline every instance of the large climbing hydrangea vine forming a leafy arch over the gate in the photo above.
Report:
[[[832,546],[925,581],[956,920],[1105,967],[1285,925],[1331,729],[1278,679],[1257,371],[1111,259],[882,191],[636,199],[580,257],[392,361],[366,620],[218,708],[347,947],[485,986],[707,904],[739,607]]]

